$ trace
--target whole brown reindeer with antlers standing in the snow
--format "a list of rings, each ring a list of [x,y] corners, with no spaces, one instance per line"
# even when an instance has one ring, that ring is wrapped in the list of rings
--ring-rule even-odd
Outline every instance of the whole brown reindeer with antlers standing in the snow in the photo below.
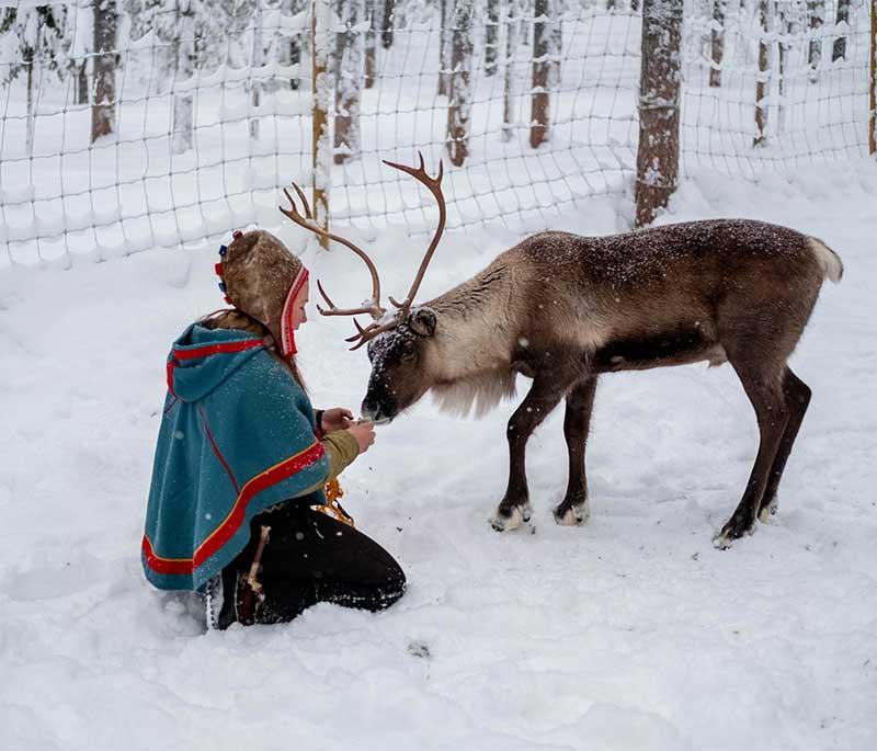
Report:
[[[532,379],[509,420],[509,483],[490,523],[512,530],[529,520],[525,450],[533,431],[566,398],[563,434],[569,481],[554,509],[558,524],[589,516],[584,452],[597,379],[606,373],[708,361],[730,363],[758,419],[760,442],[736,511],[717,547],[752,533],[776,512],[777,487],[810,401],[810,388],[788,357],[824,278],[843,265],[821,240],[748,219],[690,221],[610,237],[547,231],[501,253],[472,278],[423,305],[418,287],[444,231],[438,174],[385,162],[428,187],[438,226],[405,300],[388,314],[367,254],[322,230],[286,191],[293,221],[343,243],[368,266],[372,297],[358,308],[335,307],[319,285],[323,316],[368,314],[374,321],[346,341],[368,344],[372,374],[362,414],[389,422],[426,391],[440,406],[477,413],[515,392],[517,374]]]

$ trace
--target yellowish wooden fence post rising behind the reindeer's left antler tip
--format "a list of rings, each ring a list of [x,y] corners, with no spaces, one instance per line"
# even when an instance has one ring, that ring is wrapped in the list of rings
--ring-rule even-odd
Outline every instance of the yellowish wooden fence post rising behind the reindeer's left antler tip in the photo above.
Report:
[[[314,219],[329,229],[329,187],[332,179],[332,143],[329,133],[329,104],[332,81],[329,75],[330,26],[332,9],[329,0],[311,0],[311,149],[314,164]],[[329,248],[329,240],[319,238]]]

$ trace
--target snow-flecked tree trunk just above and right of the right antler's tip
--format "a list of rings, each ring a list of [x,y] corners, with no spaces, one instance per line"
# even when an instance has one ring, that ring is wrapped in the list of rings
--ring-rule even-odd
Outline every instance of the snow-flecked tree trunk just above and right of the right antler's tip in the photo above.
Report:
[[[460,167],[469,156],[471,114],[472,0],[456,0],[451,31],[451,81],[447,105],[447,152]]]

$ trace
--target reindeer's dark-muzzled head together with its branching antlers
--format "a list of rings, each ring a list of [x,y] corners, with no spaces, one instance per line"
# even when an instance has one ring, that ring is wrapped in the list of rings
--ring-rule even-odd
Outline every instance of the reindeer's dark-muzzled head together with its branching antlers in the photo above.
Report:
[[[284,193],[289,201],[291,208],[281,208],[281,212],[285,216],[289,217],[300,227],[345,246],[356,253],[356,255],[365,262],[366,266],[368,266],[368,272],[372,275],[372,297],[367,303],[358,308],[338,308],[327,295],[322,284],[318,281],[317,287],[329,308],[323,309],[319,306],[317,307],[323,316],[356,316],[358,314],[369,314],[374,319],[372,323],[363,328],[354,318],[353,323],[356,327],[356,333],[345,341],[353,343],[351,350],[357,350],[363,344],[368,344],[368,359],[372,362],[372,375],[368,379],[368,390],[365,395],[365,399],[363,399],[362,414],[375,422],[388,422],[392,420],[399,412],[420,399],[432,386],[432,383],[430,383],[426,377],[425,369],[421,367],[421,363],[424,357],[424,350],[429,346],[429,342],[435,333],[435,312],[425,307],[414,308],[412,310],[411,305],[423,281],[426,266],[435,249],[438,247],[438,240],[444,232],[446,209],[441,185],[444,168],[440,161],[438,174],[435,178],[431,178],[426,174],[423,164],[423,155],[418,153],[418,156],[420,157],[419,168],[397,164],[386,160],[384,162],[389,167],[407,172],[421,182],[432,192],[438,203],[438,226],[435,229],[430,247],[426,249],[417,276],[411,284],[411,288],[408,291],[408,295],[401,303],[397,303],[392,297],[389,297],[389,301],[396,308],[395,315],[388,315],[386,309],[380,305],[380,280],[372,259],[349,240],[327,232],[316,225],[307,198],[298,185],[293,184],[293,187],[298,193],[298,197],[301,201],[305,216],[303,217],[298,213],[295,200],[289,195],[288,191],[284,191]]]

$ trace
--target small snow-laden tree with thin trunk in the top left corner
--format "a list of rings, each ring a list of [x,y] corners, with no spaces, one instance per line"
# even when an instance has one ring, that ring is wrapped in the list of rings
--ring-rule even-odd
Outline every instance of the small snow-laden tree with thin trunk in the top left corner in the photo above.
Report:
[[[34,143],[36,69],[54,73],[59,79],[62,77],[65,66],[61,55],[66,20],[67,8],[60,3],[8,8],[0,16],[0,39],[5,47],[3,57],[10,60],[2,82],[9,86],[22,73],[26,80],[29,153]]]

